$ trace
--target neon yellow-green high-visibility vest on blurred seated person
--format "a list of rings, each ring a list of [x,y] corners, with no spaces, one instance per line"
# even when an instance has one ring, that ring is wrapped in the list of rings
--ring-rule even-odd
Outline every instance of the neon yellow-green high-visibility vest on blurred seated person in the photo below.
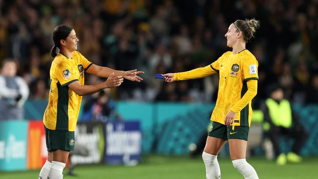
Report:
[[[265,103],[275,126],[282,126],[285,128],[292,126],[292,109],[288,100],[283,99],[278,104],[272,98],[268,98]]]

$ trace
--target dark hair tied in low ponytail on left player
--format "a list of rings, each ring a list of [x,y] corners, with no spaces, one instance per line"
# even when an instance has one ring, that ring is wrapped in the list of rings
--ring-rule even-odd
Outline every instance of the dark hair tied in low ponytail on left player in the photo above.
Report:
[[[57,55],[56,53],[56,48],[60,48],[60,41],[61,40],[66,40],[68,37],[69,33],[73,30],[74,28],[70,25],[59,25],[55,27],[53,31],[53,42],[54,46],[51,49],[51,56],[55,57]],[[61,50],[61,49],[59,49]]]

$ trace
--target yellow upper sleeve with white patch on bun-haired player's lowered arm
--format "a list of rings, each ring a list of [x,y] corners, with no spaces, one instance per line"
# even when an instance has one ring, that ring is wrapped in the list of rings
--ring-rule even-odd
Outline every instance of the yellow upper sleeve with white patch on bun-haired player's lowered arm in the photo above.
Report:
[[[258,80],[258,62],[255,58],[246,58],[243,61],[243,79]]]

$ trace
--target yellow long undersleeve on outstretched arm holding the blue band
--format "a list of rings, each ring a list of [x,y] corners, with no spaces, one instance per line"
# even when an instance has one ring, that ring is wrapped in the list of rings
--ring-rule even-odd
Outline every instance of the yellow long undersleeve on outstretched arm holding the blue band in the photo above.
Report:
[[[203,78],[205,76],[209,76],[215,73],[217,72],[214,71],[214,69],[212,69],[210,65],[208,65],[206,67],[199,67],[196,69],[192,69],[190,71],[174,73],[173,78],[175,81],[190,80],[190,79]]]

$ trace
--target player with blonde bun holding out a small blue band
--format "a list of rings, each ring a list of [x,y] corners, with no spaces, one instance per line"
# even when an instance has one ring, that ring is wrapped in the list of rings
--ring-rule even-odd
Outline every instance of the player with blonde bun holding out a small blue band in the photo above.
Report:
[[[219,92],[211,115],[211,131],[206,139],[203,160],[207,179],[220,179],[217,155],[228,140],[233,166],[245,179],[258,179],[254,168],[246,161],[246,148],[251,121],[251,100],[257,93],[257,67],[253,54],[245,48],[254,37],[259,22],[237,20],[230,24],[225,37],[232,51],[224,53],[206,67],[180,73],[167,73],[166,82],[202,78],[219,73]]]

